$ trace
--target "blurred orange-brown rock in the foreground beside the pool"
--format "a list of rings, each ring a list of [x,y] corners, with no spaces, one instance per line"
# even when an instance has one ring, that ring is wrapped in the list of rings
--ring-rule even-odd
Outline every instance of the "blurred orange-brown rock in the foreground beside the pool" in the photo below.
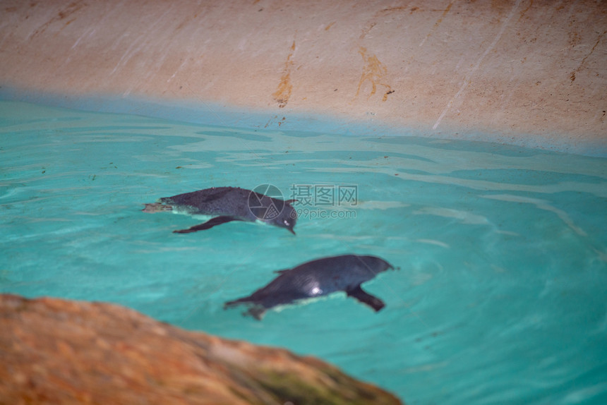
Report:
[[[0,295],[0,404],[401,404],[284,349],[108,303]]]

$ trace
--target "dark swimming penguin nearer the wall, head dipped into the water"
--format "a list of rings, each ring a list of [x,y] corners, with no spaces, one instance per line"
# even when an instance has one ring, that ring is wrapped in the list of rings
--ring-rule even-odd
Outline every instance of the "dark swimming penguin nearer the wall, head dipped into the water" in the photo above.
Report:
[[[203,231],[231,221],[265,222],[295,234],[297,212],[291,205],[294,201],[283,201],[244,188],[213,187],[160,198],[157,203],[145,204],[143,212],[175,211],[213,217],[203,224],[173,231],[177,234]]]

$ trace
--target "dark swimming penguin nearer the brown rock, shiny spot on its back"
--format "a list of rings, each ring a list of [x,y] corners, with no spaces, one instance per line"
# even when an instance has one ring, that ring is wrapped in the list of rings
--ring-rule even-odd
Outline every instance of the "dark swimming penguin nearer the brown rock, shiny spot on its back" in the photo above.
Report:
[[[280,275],[270,284],[250,296],[228,301],[224,309],[244,304],[248,311],[243,315],[261,320],[265,311],[272,307],[345,291],[348,296],[378,311],[385,303],[363,291],[361,284],[388,269],[394,267],[375,256],[342,255],[312,260],[292,269],[277,271]]]

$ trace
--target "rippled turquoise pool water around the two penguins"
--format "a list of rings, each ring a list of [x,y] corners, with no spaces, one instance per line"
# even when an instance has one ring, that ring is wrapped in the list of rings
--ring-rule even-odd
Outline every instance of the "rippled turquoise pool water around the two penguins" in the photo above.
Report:
[[[260,184],[356,195],[295,205],[297,236],[242,222],[172,234],[199,222],[140,211]],[[607,403],[606,229],[607,159],[0,102],[1,292],[319,356],[407,404]],[[363,285],[379,313],[344,294],[261,322],[222,309],[274,270],[343,253],[400,267]]]

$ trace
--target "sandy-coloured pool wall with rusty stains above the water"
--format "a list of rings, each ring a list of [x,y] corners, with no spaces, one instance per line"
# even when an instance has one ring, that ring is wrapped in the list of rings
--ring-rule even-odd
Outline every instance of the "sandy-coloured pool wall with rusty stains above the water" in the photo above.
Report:
[[[601,1],[0,4],[4,86],[607,144]]]

